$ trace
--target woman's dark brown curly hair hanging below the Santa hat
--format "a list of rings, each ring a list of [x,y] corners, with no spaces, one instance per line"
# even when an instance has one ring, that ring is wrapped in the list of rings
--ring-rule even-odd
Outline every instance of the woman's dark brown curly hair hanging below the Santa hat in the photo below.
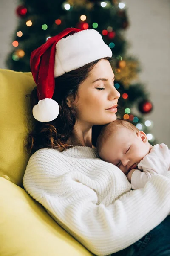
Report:
[[[111,66],[113,65],[112,58],[106,57],[104,59],[108,60]],[[55,79],[55,90],[52,99],[59,104],[59,115],[51,122],[39,122],[32,117],[32,114],[31,118],[28,116],[28,127],[30,130],[24,143],[28,154],[33,154],[40,148],[57,148],[62,152],[65,149],[73,147],[67,141],[71,137],[77,119],[77,113],[73,108],[68,107],[66,99],[71,95],[73,100],[75,100],[79,85],[85,81],[89,72],[99,61],[100,59],[93,61]],[[30,97],[32,113],[34,105],[38,103],[37,87],[32,90],[31,94],[26,95],[26,97]],[[96,138],[102,128],[102,126],[98,126],[94,125],[92,128],[93,145],[95,145]],[[93,136],[93,134],[95,135]]]

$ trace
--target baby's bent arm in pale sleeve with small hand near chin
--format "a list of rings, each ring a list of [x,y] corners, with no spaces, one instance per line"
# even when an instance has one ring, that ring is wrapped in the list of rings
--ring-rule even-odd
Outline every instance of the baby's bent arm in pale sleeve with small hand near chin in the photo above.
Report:
[[[139,189],[144,187],[147,180],[153,175],[165,175],[169,169],[169,149],[164,143],[156,144],[147,154],[143,160],[138,164],[137,169],[131,170],[127,179],[132,184],[132,189]],[[141,172],[140,170],[143,170]]]

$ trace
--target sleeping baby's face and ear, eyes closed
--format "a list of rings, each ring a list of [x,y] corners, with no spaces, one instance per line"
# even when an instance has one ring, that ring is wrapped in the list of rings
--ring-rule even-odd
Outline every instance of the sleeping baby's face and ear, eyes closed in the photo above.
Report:
[[[125,127],[119,127],[108,137],[100,151],[100,157],[109,163],[118,166],[127,175],[131,169],[150,152],[146,134],[139,131],[137,134]]]

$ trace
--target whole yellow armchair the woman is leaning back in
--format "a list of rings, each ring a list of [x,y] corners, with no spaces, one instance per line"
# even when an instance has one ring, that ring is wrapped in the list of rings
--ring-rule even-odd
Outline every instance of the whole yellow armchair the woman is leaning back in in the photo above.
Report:
[[[0,256],[91,256],[23,189],[31,73],[0,69]]]

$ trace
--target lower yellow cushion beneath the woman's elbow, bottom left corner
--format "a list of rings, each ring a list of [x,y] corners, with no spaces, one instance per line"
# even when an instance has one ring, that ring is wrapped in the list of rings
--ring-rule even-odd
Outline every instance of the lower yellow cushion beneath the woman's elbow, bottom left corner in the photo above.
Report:
[[[24,189],[0,177],[0,256],[91,256]]]

